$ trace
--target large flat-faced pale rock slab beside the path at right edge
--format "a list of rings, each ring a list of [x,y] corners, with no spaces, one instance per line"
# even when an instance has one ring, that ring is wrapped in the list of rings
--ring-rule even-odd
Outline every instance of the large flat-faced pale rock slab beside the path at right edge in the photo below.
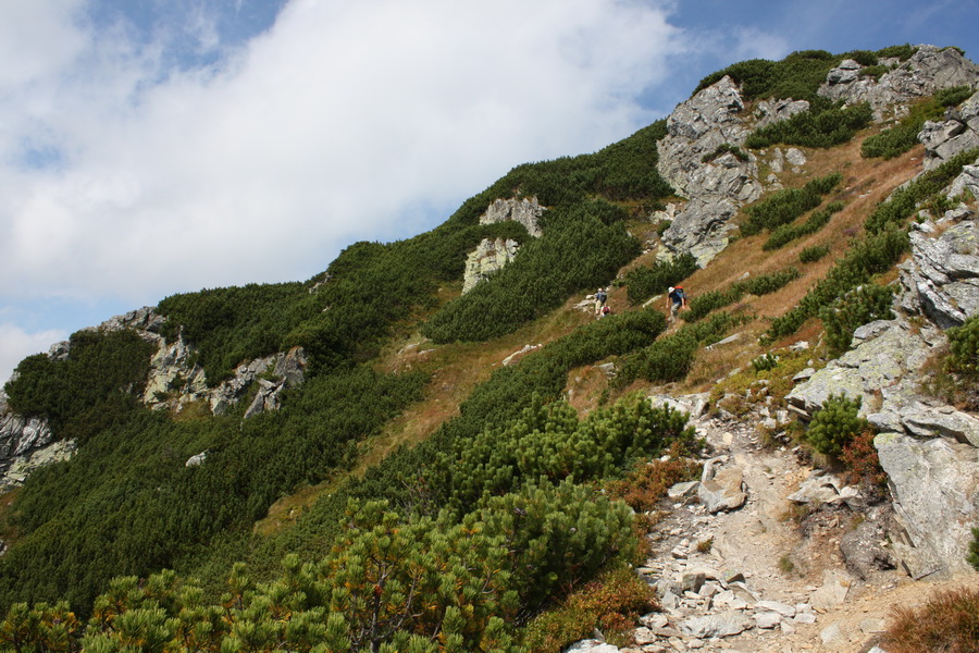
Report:
[[[979,514],[979,449],[900,433],[880,434],[873,444],[902,528],[894,551],[907,572],[933,578],[970,571],[965,558]]]

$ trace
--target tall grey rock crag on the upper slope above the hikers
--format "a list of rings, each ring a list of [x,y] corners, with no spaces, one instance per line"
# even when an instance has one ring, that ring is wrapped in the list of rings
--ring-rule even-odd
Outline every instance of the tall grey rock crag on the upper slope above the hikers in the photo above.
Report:
[[[801,110],[791,102],[766,107],[769,122]],[[738,85],[724,77],[679,104],[667,119],[667,136],[657,144],[659,173],[690,199],[662,242],[672,254],[690,251],[701,266],[728,245],[738,208],[761,194],[754,155],[743,161],[728,152],[704,162],[721,145],[744,145],[751,130],[740,115],[743,111]]]

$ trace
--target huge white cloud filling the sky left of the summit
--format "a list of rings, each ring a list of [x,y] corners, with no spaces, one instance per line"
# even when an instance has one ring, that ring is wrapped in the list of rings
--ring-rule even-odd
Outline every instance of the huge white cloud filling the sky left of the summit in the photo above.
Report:
[[[47,5],[0,14],[28,4]],[[0,301],[302,279],[517,163],[642,126],[634,98],[686,48],[635,0],[295,0],[220,72],[164,76],[160,52],[61,8],[0,20],[22,44],[60,35],[0,79]],[[21,61],[0,49],[0,70]],[[49,164],[25,165],[38,143]],[[430,207],[446,214],[422,224]]]

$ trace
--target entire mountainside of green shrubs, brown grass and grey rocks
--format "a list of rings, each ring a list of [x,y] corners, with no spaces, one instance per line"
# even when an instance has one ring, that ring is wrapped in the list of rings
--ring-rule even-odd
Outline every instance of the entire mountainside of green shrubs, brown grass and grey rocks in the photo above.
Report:
[[[25,359],[0,411],[0,639],[517,651],[597,627],[714,650],[642,537],[670,541],[657,493],[696,478],[728,558],[745,500],[804,517],[798,578],[748,594],[807,603],[814,537],[847,584],[974,574],[977,84],[932,47],[735,64],[432,232],[352,245],[305,283],[169,297]],[[691,305],[668,322],[680,284]],[[814,461],[851,484],[786,502]],[[866,568],[827,543],[859,523]],[[607,591],[608,613],[568,607]],[[739,632],[792,634],[753,596]]]

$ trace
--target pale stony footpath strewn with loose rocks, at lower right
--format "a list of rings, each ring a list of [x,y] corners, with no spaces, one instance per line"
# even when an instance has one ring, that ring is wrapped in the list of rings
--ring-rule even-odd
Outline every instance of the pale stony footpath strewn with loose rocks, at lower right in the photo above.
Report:
[[[840,541],[863,519],[846,506],[860,501],[853,489],[794,451],[763,447],[749,422],[701,417],[696,426],[712,456],[707,471],[699,484],[671,489],[672,509],[649,533],[653,554],[639,570],[662,611],[644,616],[621,651],[870,651],[895,601],[928,595],[897,570],[847,571]],[[820,493],[823,508],[800,520],[805,504],[789,497]]]

